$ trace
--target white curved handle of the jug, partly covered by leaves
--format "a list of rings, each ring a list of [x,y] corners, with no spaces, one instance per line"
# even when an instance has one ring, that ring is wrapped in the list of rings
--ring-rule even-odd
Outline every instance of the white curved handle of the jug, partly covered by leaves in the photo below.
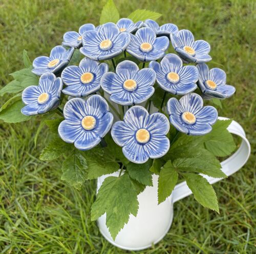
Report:
[[[226,117],[218,117],[219,120],[228,120]],[[230,125],[228,126],[227,130],[235,135],[238,135],[242,138],[242,143],[236,153],[231,155],[229,158],[227,158],[225,161],[221,162],[222,171],[227,175],[231,175],[235,172],[237,172],[240,168],[244,166],[244,164],[247,162],[249,156],[250,156],[250,143],[248,139],[245,136],[244,129],[242,126],[236,122],[232,121]],[[207,179],[207,181],[210,184],[214,184],[216,182],[221,181],[223,178],[214,178],[208,175],[201,174],[202,176]],[[182,182],[175,186],[174,191],[172,193],[173,202],[176,202],[186,196],[189,196],[192,194],[191,190],[188,188],[186,182]]]

